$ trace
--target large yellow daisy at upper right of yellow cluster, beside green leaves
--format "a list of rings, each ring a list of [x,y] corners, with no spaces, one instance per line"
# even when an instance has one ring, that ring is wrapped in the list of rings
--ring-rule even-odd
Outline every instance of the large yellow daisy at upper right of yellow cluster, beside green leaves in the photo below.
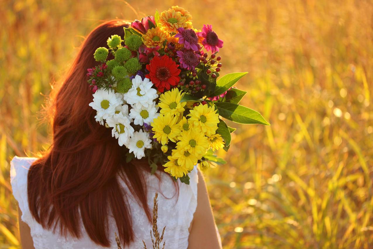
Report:
[[[194,127],[200,128],[206,136],[211,136],[215,134],[217,130],[217,124],[219,123],[219,114],[216,113],[214,108],[208,105],[198,105],[190,110],[188,114],[190,116],[189,122],[191,122]]]

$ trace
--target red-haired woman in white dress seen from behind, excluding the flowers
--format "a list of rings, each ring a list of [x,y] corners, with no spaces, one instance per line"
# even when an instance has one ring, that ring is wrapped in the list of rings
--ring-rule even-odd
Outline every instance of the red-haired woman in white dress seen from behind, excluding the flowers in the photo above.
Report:
[[[221,248],[206,185],[200,171],[190,184],[174,182],[147,161],[129,163],[97,123],[88,104],[92,92],[85,70],[97,65],[93,53],[107,37],[124,36],[128,23],[110,21],[85,39],[61,87],[51,94],[53,143],[41,158],[13,158],[11,183],[19,205],[23,249],[124,248],[151,245],[151,208],[159,192],[158,226],[166,225],[166,248]],[[54,94],[56,93],[56,94]]]

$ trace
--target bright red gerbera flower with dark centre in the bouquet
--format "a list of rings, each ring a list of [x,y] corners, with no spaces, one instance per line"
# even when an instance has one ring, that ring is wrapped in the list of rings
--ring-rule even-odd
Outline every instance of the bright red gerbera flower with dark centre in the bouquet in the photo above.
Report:
[[[164,92],[164,88],[170,90],[171,85],[177,85],[180,81],[179,74],[181,72],[178,69],[179,65],[167,55],[154,56],[150,61],[150,64],[146,65],[146,69],[149,74],[145,77],[149,78],[154,85],[156,85],[158,91]]]

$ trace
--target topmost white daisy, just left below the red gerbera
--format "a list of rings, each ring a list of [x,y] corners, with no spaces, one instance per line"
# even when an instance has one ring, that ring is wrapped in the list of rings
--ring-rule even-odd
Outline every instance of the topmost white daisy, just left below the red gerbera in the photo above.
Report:
[[[158,97],[157,90],[151,88],[153,83],[148,78],[141,79],[140,75],[136,75],[132,79],[132,87],[124,94],[124,100],[130,105],[136,105],[137,108],[142,106],[148,107],[153,104],[153,100]]]

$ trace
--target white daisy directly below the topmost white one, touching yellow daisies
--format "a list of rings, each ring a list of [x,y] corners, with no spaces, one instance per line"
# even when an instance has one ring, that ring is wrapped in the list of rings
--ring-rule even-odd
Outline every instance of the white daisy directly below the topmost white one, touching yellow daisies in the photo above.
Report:
[[[159,113],[157,113],[159,107],[156,106],[155,101],[148,107],[141,106],[141,108],[137,108],[135,105],[131,106],[132,109],[129,112],[129,116],[134,119],[134,124],[143,125],[144,122],[150,124],[154,118],[159,116]]]

